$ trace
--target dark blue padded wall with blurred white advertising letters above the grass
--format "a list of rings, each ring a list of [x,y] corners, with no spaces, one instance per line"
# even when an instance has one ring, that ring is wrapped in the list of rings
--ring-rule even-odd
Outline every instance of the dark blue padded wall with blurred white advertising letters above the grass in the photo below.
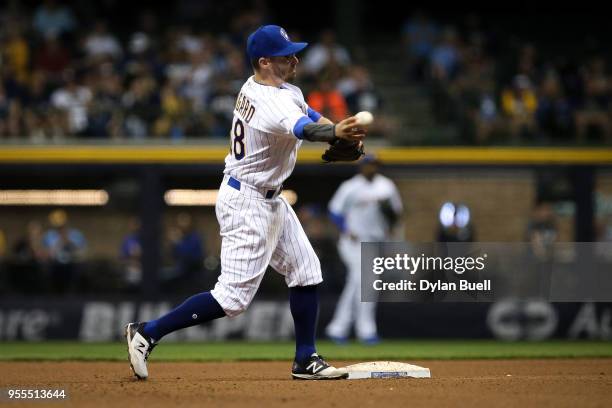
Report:
[[[182,300],[182,299],[181,299]],[[29,299],[0,301],[0,342],[116,341],[129,321],[148,320],[181,300]],[[319,333],[335,299],[321,304]],[[379,333],[394,338],[497,338],[502,340],[612,340],[612,304],[513,301],[497,303],[381,303]],[[164,341],[286,340],[293,321],[286,301],[259,299],[244,314],[174,333]]]

